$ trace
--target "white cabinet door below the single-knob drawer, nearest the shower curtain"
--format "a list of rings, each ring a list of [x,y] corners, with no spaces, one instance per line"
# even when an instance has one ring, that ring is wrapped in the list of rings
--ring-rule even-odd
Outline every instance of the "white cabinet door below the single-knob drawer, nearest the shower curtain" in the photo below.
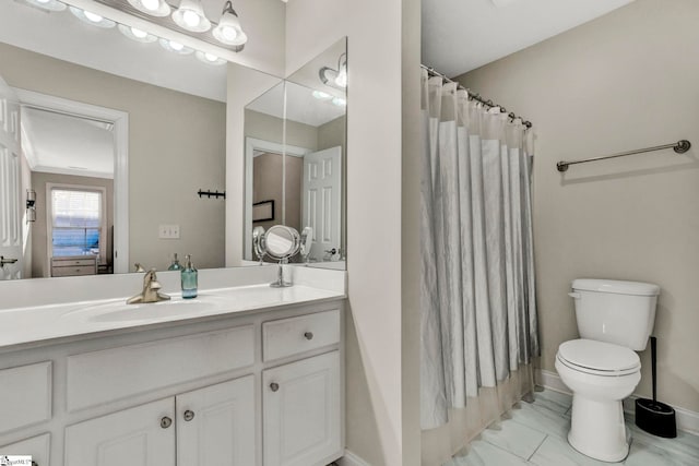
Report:
[[[262,380],[265,466],[318,465],[341,453],[340,351],[266,370]]]

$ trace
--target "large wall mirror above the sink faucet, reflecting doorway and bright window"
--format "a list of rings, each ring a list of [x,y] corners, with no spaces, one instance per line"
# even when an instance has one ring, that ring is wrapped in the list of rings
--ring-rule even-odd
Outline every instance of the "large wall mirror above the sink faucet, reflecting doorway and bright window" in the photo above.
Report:
[[[274,9],[283,22],[281,2],[242,3],[248,21]],[[212,17],[221,7],[204,1]],[[276,20],[264,20],[257,27],[271,28],[260,35],[275,46]],[[0,255],[20,261],[1,267],[0,279],[129,272],[135,262],[166,270],[175,253],[192,254],[200,268],[225,265],[226,200],[197,194],[226,190],[225,62],[23,1],[0,7],[0,57],[23,142],[20,183],[0,181],[0,205],[20,210],[22,237]],[[25,213],[28,192],[34,212]],[[8,225],[3,218],[0,229]]]

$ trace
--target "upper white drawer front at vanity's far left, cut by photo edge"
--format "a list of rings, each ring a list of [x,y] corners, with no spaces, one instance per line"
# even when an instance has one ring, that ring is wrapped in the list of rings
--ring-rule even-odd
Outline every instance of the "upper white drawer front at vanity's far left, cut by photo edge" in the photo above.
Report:
[[[51,362],[0,370],[0,433],[51,418]]]

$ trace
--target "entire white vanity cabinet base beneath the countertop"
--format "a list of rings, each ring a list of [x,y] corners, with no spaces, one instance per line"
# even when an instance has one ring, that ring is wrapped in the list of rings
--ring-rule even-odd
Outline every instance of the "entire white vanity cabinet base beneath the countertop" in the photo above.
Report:
[[[328,465],[344,452],[343,306],[0,347],[0,453],[38,466]]]

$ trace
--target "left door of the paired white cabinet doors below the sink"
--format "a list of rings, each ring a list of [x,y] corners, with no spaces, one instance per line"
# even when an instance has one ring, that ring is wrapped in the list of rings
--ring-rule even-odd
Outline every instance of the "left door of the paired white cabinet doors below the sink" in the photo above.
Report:
[[[66,429],[66,465],[175,466],[175,398]]]

